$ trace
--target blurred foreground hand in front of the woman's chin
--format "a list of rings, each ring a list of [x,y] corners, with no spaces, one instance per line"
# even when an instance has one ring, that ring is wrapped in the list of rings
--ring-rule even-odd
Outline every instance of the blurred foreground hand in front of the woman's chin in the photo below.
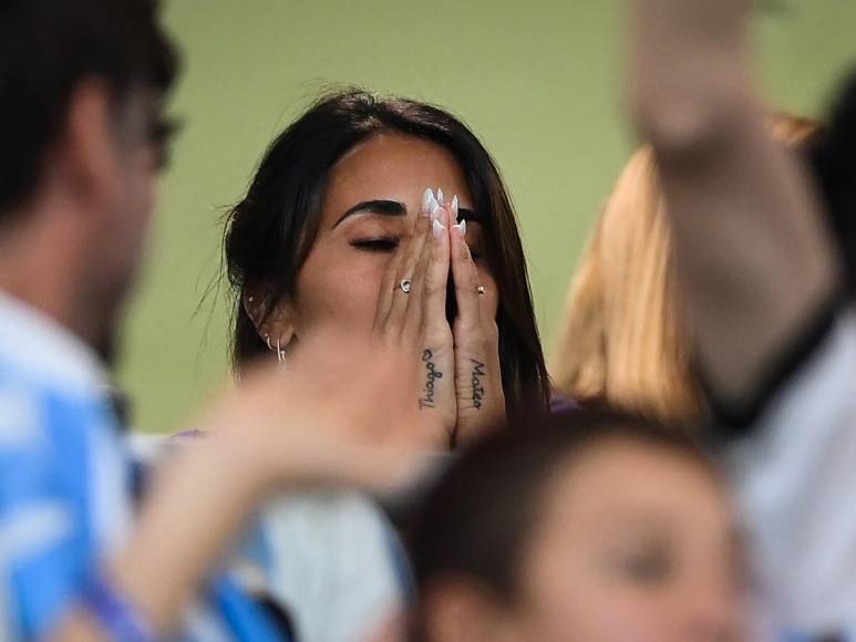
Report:
[[[383,342],[319,332],[302,340],[288,366],[246,372],[203,427],[227,441],[267,491],[319,484],[394,490],[417,476],[436,439],[412,403],[414,366]]]

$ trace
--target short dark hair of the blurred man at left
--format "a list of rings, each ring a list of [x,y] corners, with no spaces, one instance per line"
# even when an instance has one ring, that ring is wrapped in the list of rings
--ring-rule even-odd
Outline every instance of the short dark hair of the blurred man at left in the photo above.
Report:
[[[136,87],[166,92],[177,60],[156,14],[155,0],[2,0],[0,222],[35,190],[82,81],[103,81],[117,106]]]

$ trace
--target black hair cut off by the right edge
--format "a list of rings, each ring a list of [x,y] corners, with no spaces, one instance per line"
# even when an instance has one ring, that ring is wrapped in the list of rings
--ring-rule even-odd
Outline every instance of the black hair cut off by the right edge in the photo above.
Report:
[[[827,126],[809,149],[812,173],[844,257],[847,288],[856,298],[856,73],[844,85]]]

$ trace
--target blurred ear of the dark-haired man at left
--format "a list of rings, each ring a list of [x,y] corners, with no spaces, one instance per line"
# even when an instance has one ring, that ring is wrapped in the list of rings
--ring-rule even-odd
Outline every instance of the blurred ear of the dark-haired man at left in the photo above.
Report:
[[[111,209],[122,191],[115,115],[107,86],[82,82],[72,93],[56,158],[85,210]]]

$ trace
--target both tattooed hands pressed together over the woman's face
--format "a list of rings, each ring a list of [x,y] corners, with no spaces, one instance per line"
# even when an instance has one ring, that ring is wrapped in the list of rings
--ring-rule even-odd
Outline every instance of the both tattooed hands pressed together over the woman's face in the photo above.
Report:
[[[442,426],[452,439],[505,418],[497,299],[487,299],[488,288],[495,292],[496,286],[481,282],[474,258],[481,255],[474,255],[466,241],[467,220],[476,220],[474,213],[462,209],[456,195],[446,206],[442,188],[436,196],[425,189],[414,231],[381,281],[374,320],[374,330],[386,341],[404,352],[413,346],[422,350],[415,376],[422,384],[417,405],[426,424]],[[451,327],[450,279],[457,303]],[[484,279],[493,281],[489,272]]]

